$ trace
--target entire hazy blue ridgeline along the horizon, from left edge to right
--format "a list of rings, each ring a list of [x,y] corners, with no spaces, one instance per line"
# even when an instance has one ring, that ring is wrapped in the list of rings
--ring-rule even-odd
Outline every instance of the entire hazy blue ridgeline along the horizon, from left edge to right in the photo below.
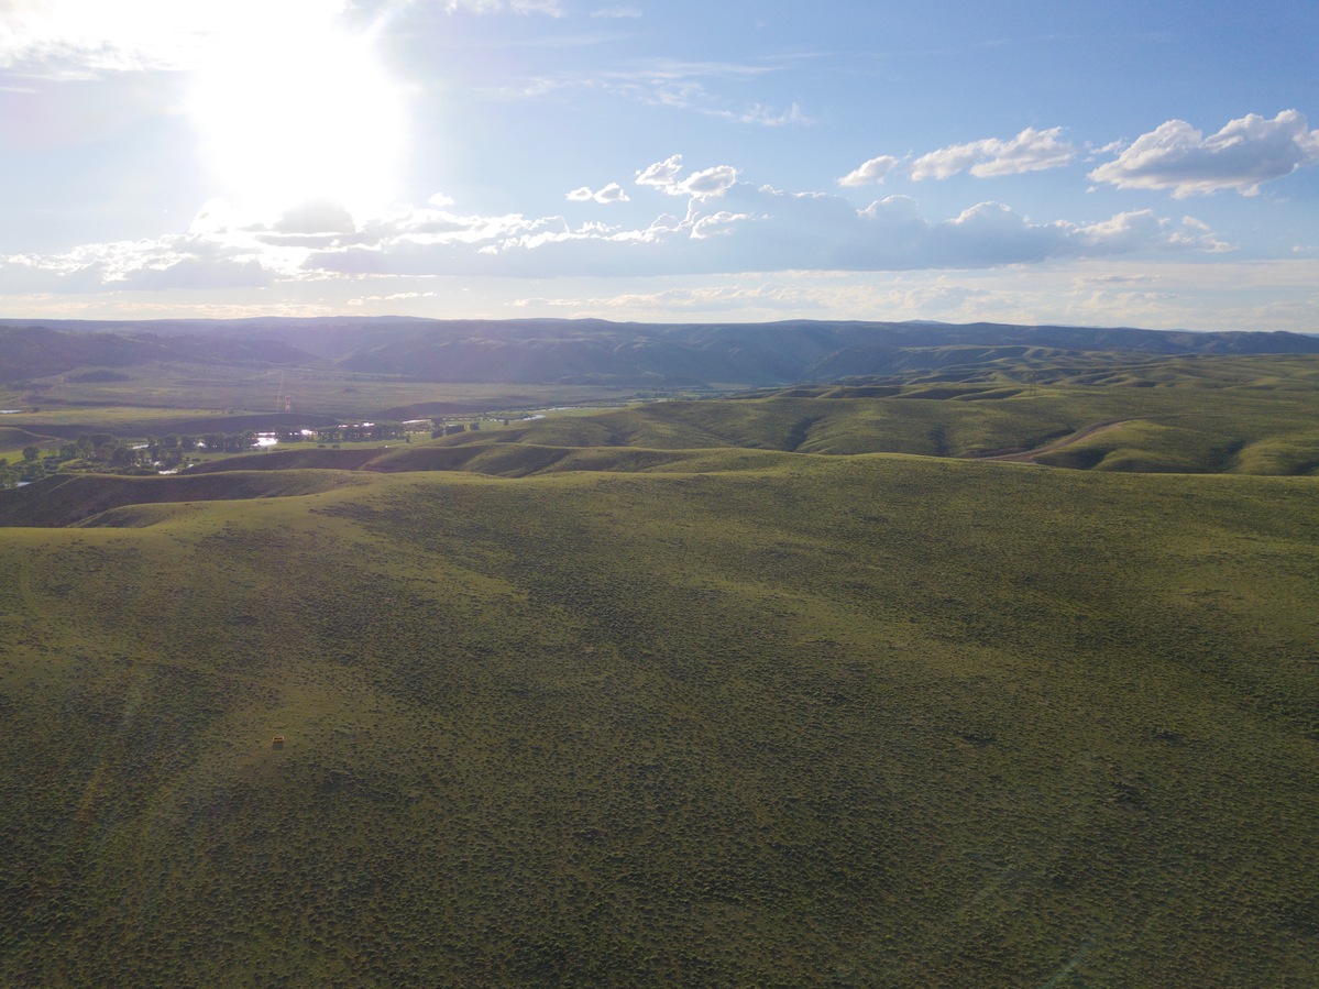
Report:
[[[0,320],[0,384],[115,381],[153,363],[323,368],[412,381],[769,388],[1086,353],[1319,353],[1319,336],[971,323],[599,319]]]

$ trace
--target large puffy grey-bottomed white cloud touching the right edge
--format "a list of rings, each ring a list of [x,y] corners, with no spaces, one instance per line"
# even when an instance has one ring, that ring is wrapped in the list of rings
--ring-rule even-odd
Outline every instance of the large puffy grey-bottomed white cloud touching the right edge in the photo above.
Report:
[[[1204,137],[1184,120],[1141,135],[1115,161],[1089,173],[1119,189],[1171,189],[1182,199],[1232,189],[1257,195],[1260,185],[1319,162],[1319,132],[1285,109],[1273,120],[1248,113]]]

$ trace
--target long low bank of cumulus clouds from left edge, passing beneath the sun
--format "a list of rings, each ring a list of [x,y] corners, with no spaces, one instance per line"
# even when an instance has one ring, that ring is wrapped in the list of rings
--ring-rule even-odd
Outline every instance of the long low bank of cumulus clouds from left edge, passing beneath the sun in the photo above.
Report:
[[[931,218],[907,196],[857,210],[842,195],[740,181],[732,166],[686,175],[679,156],[637,173],[642,186],[686,199],[642,224],[563,216],[459,212],[443,196],[353,222],[332,204],[273,223],[237,225],[208,203],[187,235],[0,256],[0,289],[50,293],[255,287],[376,276],[551,278],[704,276],[745,272],[983,269],[1060,258],[1182,256],[1228,249],[1194,218],[1150,210],[1088,223],[1038,223],[1001,203]],[[617,183],[576,190],[608,202]],[[603,199],[601,199],[603,196]]]

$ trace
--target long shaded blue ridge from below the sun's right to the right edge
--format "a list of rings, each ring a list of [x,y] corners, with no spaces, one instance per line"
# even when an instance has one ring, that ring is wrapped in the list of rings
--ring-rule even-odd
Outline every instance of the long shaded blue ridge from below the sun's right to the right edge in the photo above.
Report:
[[[339,361],[434,381],[765,385],[1020,359],[1029,351],[1319,353],[1295,334],[789,322],[641,326],[598,320],[439,323]]]

